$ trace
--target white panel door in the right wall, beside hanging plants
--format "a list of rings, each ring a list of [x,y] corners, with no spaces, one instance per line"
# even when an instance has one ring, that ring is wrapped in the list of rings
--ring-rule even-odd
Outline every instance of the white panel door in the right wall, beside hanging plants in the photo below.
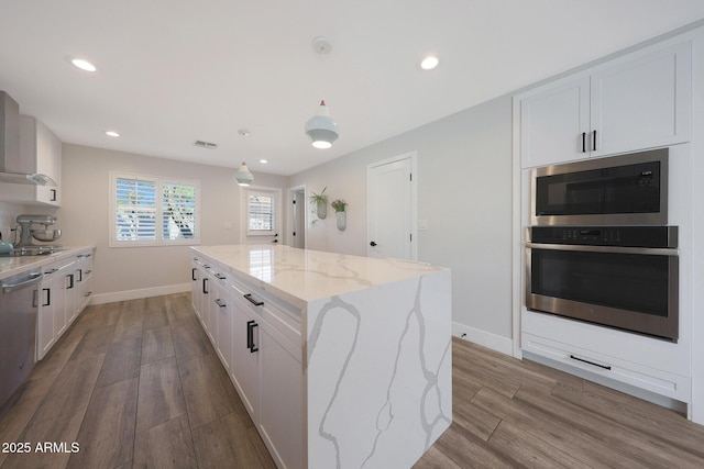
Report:
[[[367,167],[370,257],[416,260],[416,154]]]

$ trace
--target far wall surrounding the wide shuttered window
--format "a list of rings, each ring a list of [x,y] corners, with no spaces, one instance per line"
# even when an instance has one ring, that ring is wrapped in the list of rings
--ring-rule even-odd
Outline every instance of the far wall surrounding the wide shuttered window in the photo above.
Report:
[[[195,165],[101,148],[64,144],[62,208],[57,216],[66,246],[98,246],[94,292],[158,289],[190,283],[187,246],[108,247],[109,171],[124,171],[200,181],[201,244],[237,244],[240,238],[240,188],[234,169]],[[256,175],[256,182],[283,187],[286,178]],[[226,223],[231,223],[226,228]]]

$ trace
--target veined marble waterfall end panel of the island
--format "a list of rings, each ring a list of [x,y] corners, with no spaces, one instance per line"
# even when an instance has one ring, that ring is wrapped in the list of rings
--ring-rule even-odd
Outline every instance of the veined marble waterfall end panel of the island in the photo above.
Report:
[[[409,468],[450,426],[450,308],[447,270],[308,305],[309,468]]]

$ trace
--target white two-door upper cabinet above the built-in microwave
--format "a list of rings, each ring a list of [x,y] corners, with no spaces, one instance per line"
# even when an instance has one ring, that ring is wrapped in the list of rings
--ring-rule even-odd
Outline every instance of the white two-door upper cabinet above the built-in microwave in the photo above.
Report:
[[[514,98],[524,168],[690,139],[692,45],[653,46]]]

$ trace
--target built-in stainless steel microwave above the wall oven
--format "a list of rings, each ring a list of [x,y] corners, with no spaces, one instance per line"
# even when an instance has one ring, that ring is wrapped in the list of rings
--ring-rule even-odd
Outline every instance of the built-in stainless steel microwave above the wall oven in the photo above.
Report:
[[[530,224],[667,225],[668,148],[537,168]]]

